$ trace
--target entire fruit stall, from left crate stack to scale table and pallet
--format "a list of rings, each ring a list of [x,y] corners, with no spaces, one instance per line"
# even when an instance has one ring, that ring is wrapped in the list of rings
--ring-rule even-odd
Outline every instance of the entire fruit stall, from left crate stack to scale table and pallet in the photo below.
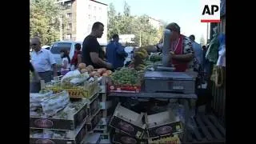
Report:
[[[189,130],[198,98],[193,72],[158,71],[158,55],[153,54],[150,62],[145,50],[134,54],[129,68],[114,73],[81,64],[61,78],[42,82],[44,89],[30,94],[30,142],[223,142],[225,130],[214,117],[195,117],[200,127]],[[155,106],[150,104],[152,99]],[[150,105],[146,110],[134,110],[130,101]],[[156,106],[157,101],[168,104]]]

